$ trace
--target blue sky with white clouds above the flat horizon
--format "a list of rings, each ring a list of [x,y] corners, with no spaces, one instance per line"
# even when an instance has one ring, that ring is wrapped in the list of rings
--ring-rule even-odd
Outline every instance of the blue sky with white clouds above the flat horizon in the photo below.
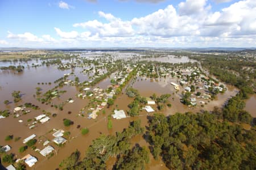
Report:
[[[0,47],[255,47],[256,0],[1,0]]]

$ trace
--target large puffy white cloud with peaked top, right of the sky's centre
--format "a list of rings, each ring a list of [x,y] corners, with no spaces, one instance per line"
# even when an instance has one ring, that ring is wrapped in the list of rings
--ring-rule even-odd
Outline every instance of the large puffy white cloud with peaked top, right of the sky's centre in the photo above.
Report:
[[[198,35],[199,22],[191,16],[180,16],[172,5],[142,18],[134,18],[131,23],[138,27],[140,35],[187,36]]]

